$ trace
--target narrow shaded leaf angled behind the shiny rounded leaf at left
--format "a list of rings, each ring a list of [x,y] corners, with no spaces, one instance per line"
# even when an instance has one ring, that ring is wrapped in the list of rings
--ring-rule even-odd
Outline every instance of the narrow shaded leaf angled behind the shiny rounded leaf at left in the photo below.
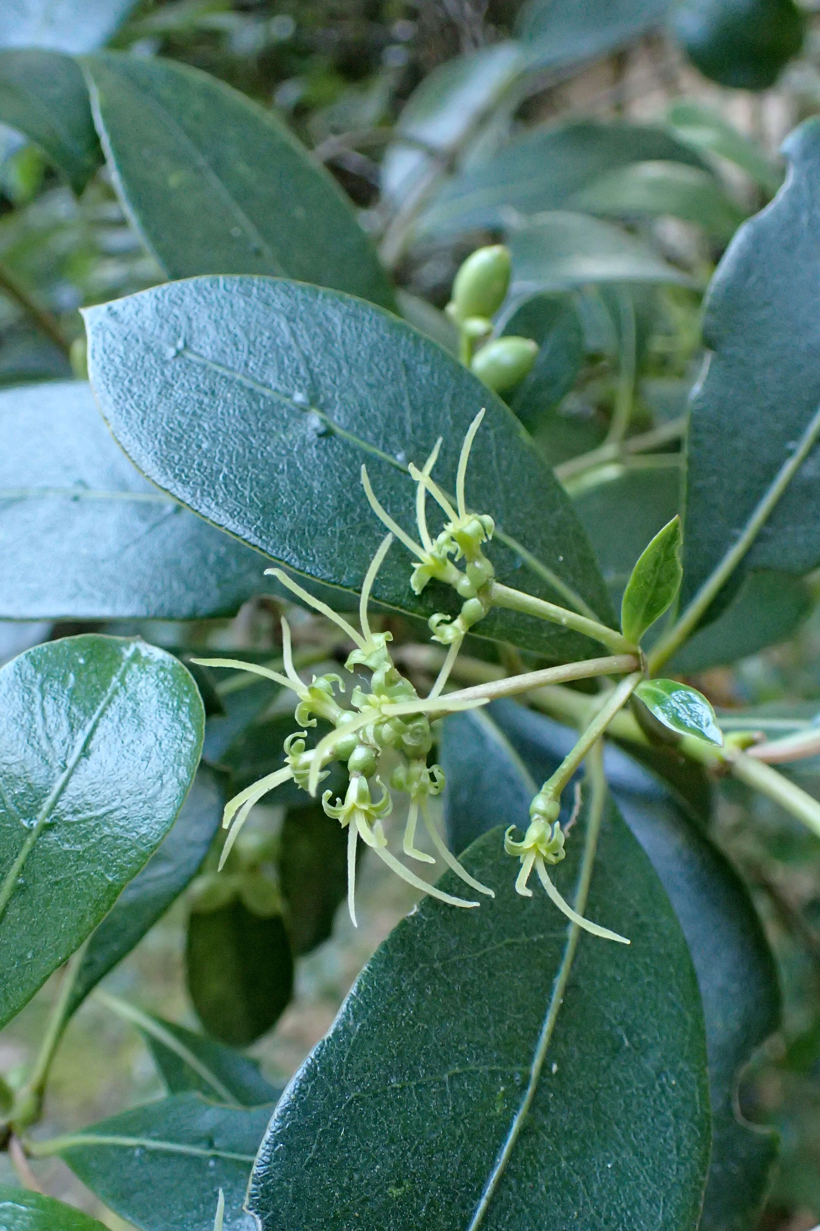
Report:
[[[171,832],[92,933],[71,988],[66,1019],[193,880],[219,828],[224,803],[219,776],[200,766]]]

